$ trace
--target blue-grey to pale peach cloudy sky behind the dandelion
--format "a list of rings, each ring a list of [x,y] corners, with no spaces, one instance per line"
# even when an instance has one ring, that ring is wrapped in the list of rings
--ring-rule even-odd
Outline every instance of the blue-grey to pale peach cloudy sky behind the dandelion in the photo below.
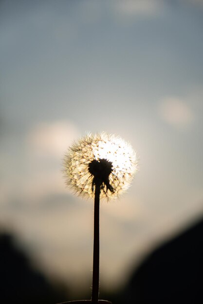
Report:
[[[139,158],[101,203],[101,286],[203,215],[202,0],[1,0],[0,67],[0,229],[47,275],[91,285],[93,203],[61,172],[88,132]]]

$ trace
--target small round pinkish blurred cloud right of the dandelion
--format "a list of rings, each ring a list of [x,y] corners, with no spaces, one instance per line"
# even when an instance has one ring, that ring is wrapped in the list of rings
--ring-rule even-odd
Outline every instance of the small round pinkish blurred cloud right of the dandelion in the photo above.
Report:
[[[185,129],[194,120],[194,114],[189,105],[177,97],[163,99],[158,106],[158,112],[168,124],[181,129]]]

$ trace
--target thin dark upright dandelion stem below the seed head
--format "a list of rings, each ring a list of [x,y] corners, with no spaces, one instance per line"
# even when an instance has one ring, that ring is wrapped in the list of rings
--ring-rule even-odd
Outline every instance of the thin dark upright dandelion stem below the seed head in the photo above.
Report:
[[[94,193],[94,245],[93,245],[93,276],[92,276],[92,304],[99,299],[99,197],[100,183],[95,184]]]

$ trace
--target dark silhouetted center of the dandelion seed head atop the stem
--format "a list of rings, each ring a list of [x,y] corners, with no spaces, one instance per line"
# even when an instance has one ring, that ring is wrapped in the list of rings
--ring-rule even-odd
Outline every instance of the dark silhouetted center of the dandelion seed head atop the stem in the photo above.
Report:
[[[88,167],[89,172],[101,181],[108,179],[112,172],[112,163],[104,158],[92,160]]]

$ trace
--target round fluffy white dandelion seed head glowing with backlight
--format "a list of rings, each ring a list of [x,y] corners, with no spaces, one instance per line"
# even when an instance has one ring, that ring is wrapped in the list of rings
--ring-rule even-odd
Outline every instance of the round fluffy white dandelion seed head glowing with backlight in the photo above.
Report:
[[[116,198],[128,189],[136,169],[136,153],[131,145],[106,133],[82,137],[64,157],[67,185],[75,193],[89,197],[94,196],[99,181],[100,198]]]

